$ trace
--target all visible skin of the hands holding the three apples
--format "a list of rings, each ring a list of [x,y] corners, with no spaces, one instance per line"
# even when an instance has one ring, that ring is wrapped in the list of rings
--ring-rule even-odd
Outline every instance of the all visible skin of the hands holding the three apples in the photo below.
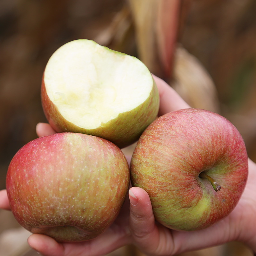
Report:
[[[157,77],[155,80],[160,95],[159,116],[189,108],[168,84]],[[38,136],[54,133],[48,124],[38,124],[36,131]],[[127,156],[128,162],[130,158]],[[116,221],[99,237],[82,243],[59,244],[48,236],[33,234],[28,238],[28,244],[44,255],[103,255],[126,244],[135,244],[149,255],[177,255],[241,241],[256,252],[256,164],[250,159],[248,161],[248,182],[239,203],[225,219],[209,228],[180,232],[155,223],[148,194],[133,187]],[[10,209],[5,190],[0,191],[0,208]]]

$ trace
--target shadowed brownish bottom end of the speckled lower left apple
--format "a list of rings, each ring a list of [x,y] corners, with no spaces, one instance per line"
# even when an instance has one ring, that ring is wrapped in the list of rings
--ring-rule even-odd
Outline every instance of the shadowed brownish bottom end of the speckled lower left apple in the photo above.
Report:
[[[95,238],[98,233],[82,230],[75,226],[34,228],[32,233],[50,236],[59,243],[82,242]]]

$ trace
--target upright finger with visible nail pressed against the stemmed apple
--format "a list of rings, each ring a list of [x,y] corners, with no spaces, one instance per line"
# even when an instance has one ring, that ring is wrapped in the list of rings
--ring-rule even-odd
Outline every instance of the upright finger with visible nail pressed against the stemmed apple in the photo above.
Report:
[[[133,242],[143,251],[156,252],[159,232],[148,193],[142,188],[132,187],[130,199],[130,231]]]

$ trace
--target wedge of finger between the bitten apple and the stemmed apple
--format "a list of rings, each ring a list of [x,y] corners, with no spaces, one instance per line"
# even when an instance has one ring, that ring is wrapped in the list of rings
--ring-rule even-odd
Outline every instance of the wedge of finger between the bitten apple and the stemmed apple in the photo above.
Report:
[[[188,103],[184,101],[180,95],[164,80],[161,78],[154,76],[154,80],[156,81],[156,85],[158,88],[159,96],[160,96],[160,108],[158,116],[162,116],[171,111],[190,108]]]

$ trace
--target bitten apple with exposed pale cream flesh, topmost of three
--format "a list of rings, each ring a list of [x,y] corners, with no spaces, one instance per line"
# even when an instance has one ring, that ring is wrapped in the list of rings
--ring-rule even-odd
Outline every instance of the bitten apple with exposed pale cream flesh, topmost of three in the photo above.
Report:
[[[62,45],[42,79],[42,106],[56,132],[81,132],[124,148],[156,118],[159,94],[137,58],[94,41]]]

